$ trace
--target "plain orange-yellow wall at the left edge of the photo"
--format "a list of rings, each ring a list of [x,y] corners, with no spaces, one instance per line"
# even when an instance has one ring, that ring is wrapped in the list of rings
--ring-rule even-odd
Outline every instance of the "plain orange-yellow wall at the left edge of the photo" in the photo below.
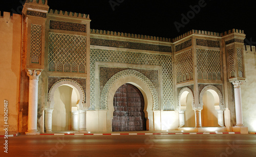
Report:
[[[0,123],[4,123],[4,100],[8,101],[8,132],[18,131],[22,16],[4,12],[0,18]],[[0,134],[3,135],[3,125]]]

